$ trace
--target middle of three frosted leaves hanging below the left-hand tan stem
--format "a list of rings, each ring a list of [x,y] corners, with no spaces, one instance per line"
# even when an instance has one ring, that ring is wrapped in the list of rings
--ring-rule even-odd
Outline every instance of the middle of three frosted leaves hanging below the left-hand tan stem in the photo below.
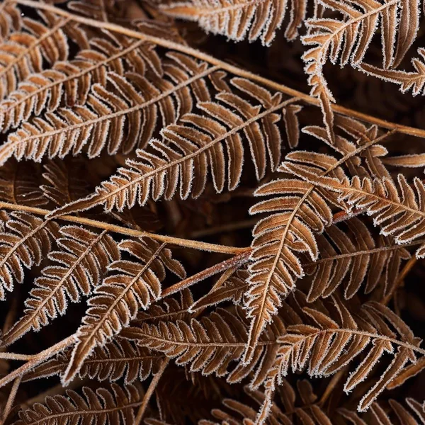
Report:
[[[4,345],[12,344],[30,329],[40,330],[58,314],[63,315],[68,300],[79,302],[80,294],[89,295],[108,266],[120,259],[117,244],[106,230],[96,233],[84,227],[64,226],[57,246],[60,251],[48,255],[53,265],[43,268],[35,279],[23,317],[4,334]]]

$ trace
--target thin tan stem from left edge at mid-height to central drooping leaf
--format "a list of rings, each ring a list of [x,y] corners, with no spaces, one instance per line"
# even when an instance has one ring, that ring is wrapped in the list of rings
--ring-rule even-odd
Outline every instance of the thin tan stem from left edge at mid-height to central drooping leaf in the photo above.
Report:
[[[50,210],[45,210],[43,208],[28,207],[27,205],[18,205],[7,202],[0,202],[0,208],[13,211],[32,212],[36,215],[47,215],[51,212]],[[159,242],[166,242],[167,244],[173,244],[178,246],[186,246],[188,248],[200,249],[201,251],[220,252],[222,254],[239,254],[240,252],[246,251],[246,248],[208,244],[206,242],[192,241],[190,239],[182,239],[180,237],[166,236],[165,234],[149,233],[141,230],[129,229],[128,227],[111,225],[110,223],[100,222],[98,220],[91,220],[89,218],[76,217],[74,215],[60,215],[59,217],[55,217],[55,220],[64,220],[67,222],[79,223],[81,225],[97,227],[98,229],[106,229],[109,232],[126,234],[128,236],[150,237],[151,239],[155,239]]]

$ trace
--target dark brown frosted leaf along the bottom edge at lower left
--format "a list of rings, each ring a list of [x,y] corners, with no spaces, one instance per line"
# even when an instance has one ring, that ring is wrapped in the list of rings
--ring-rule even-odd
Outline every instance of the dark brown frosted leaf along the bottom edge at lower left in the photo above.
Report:
[[[111,384],[111,390],[98,388],[96,392],[83,387],[82,395],[67,390],[67,395],[46,397],[45,403],[36,403],[19,412],[14,425],[132,425],[134,409],[142,403],[142,389],[137,385]]]

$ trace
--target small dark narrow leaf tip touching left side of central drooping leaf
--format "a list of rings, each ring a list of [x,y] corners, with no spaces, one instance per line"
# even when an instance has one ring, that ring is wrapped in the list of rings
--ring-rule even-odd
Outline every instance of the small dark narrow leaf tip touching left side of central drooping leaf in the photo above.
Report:
[[[248,278],[248,271],[238,270],[233,276],[230,276],[220,288],[213,288],[208,294],[204,295],[196,302],[193,302],[190,306],[191,311],[195,312],[196,310],[209,307],[210,305],[217,305],[227,300],[232,300],[234,304],[240,304],[247,289]]]

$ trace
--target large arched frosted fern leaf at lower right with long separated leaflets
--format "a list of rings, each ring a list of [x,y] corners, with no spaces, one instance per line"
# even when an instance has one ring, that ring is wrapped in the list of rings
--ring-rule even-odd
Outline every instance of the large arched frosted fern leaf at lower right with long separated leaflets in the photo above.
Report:
[[[309,375],[327,376],[351,363],[367,349],[363,361],[344,385],[344,390],[350,392],[367,378],[385,353],[390,353],[390,365],[358,404],[359,411],[363,412],[408,361],[416,362],[416,352],[424,354],[425,351],[419,348],[421,340],[414,337],[407,324],[378,302],[363,305],[362,316],[356,318],[338,299],[334,298],[334,302],[339,310],[339,322],[323,312],[305,307],[305,313],[312,317],[315,324],[288,327],[288,334],[279,339],[282,346],[275,368],[280,376],[287,375],[289,368],[293,371],[307,368]]]

